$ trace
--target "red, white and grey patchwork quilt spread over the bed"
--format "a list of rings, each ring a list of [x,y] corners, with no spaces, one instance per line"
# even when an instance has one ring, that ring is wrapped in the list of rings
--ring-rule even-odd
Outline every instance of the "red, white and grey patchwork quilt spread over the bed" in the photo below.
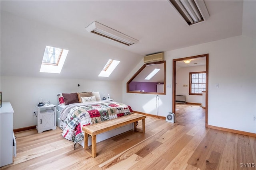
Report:
[[[82,127],[115,119],[120,116],[132,114],[132,109],[122,103],[114,101],[98,101],[88,103],[70,104],[62,110],[62,136],[70,141],[77,142],[84,139]]]

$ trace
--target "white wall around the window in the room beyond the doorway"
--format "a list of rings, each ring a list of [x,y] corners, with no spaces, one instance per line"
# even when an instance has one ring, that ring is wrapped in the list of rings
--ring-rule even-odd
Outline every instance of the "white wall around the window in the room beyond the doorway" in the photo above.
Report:
[[[181,67],[176,70],[176,95],[185,95],[186,102],[202,104],[202,96],[189,95],[189,73],[206,71],[206,66]],[[183,87],[186,84],[188,86]]]

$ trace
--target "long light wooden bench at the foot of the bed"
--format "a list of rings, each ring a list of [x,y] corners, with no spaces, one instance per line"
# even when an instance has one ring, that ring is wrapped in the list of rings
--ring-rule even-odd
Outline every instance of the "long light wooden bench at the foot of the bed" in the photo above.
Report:
[[[116,119],[111,119],[82,127],[82,131],[84,131],[84,151],[95,158],[97,156],[96,135],[110,131],[112,129],[116,129],[118,127],[122,127],[124,125],[128,125],[130,123],[134,123],[139,120],[142,120],[142,130],[138,130],[136,128],[136,123],[134,123],[134,131],[145,133],[145,118],[146,115],[132,113],[130,115],[118,117]],[[88,148],[88,134],[92,136],[92,150]]]

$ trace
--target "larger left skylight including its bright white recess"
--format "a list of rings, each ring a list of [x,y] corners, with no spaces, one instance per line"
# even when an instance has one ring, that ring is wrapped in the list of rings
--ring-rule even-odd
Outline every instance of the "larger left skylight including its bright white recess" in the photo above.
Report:
[[[40,72],[60,73],[68,50],[46,46]]]

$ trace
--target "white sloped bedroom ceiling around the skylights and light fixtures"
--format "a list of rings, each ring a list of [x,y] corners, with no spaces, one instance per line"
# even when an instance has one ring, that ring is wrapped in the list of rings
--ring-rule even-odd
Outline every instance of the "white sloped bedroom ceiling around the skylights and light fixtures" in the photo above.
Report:
[[[242,34],[242,1],[206,0],[210,18],[188,26],[166,0],[1,0],[1,75],[123,80],[142,57]],[[98,21],[138,39],[126,46],[89,33]],[[59,75],[39,73],[46,45],[69,50]],[[187,56],[185,56],[187,57]],[[120,66],[98,78],[108,59]],[[38,68],[39,67],[39,68]]]

